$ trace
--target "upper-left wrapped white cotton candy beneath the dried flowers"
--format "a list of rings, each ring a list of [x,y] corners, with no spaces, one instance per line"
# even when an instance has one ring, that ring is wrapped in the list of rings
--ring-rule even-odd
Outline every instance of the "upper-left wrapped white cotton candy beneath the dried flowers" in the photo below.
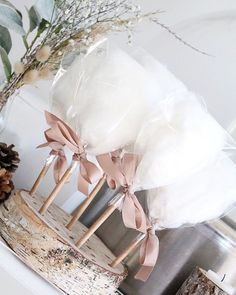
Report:
[[[156,83],[157,81],[155,81]],[[59,115],[92,154],[111,152],[136,140],[160,87],[134,58],[118,48],[77,58],[54,86],[52,112]]]

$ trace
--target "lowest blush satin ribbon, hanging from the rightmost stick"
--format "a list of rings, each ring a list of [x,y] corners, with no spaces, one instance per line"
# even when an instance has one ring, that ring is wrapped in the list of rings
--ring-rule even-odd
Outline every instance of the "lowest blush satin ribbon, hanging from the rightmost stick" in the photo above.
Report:
[[[140,248],[141,268],[135,275],[135,279],[146,282],[157,262],[159,255],[159,239],[155,234],[155,229],[149,227]]]

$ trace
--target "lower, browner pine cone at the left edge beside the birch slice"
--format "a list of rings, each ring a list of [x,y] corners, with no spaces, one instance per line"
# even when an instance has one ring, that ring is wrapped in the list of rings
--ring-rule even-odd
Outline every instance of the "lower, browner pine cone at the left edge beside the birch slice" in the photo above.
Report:
[[[14,189],[12,174],[6,169],[0,169],[0,203],[3,203]]]

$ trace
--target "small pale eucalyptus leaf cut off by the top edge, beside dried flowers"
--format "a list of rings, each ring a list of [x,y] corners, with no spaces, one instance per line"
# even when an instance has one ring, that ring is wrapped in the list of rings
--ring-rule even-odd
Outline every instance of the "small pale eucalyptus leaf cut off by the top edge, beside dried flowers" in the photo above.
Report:
[[[54,0],[38,0],[34,7],[38,14],[50,23],[55,19],[57,15]]]

